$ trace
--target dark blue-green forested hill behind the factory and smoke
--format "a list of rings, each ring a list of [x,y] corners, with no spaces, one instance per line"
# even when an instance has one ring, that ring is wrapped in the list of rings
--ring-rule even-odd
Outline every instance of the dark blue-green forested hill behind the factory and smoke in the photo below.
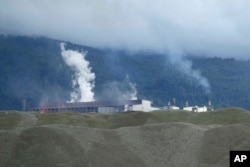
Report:
[[[94,49],[67,43],[72,50],[88,51],[86,59],[96,75],[95,98],[105,99],[109,84],[124,83],[129,76],[136,84],[138,97],[164,106],[176,99],[179,106],[239,106],[250,109],[250,61],[223,58],[189,57],[193,68],[206,77],[211,92],[172,65],[166,55],[131,54],[125,51]],[[37,107],[40,103],[64,102],[72,91],[74,71],[65,64],[60,41],[48,38],[0,36],[0,109]],[[122,87],[122,86],[121,86]],[[108,97],[112,98],[112,97]]]

